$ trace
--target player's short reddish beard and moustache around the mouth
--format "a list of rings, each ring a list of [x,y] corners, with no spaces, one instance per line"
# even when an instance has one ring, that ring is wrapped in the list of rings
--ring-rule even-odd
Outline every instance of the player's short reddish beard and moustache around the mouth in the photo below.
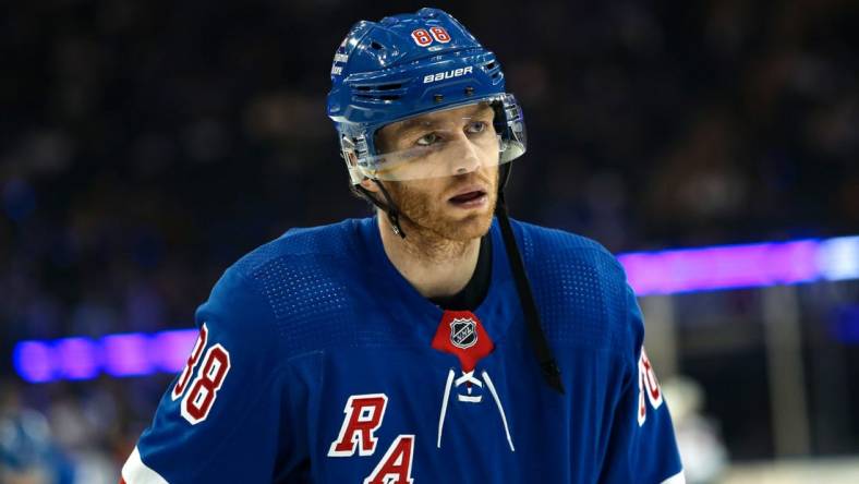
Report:
[[[452,206],[448,198],[457,190],[473,183],[486,186],[486,206],[472,210]],[[407,241],[412,239],[411,242],[425,249],[451,242],[465,243],[485,235],[492,227],[498,198],[497,167],[437,180],[389,182],[385,185],[400,209]]]

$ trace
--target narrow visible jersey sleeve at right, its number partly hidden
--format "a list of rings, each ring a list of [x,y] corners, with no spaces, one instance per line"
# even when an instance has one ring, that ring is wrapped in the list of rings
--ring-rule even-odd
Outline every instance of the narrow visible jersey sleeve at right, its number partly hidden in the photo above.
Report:
[[[686,481],[668,406],[642,344],[641,308],[628,285],[626,292],[632,337],[600,482],[681,484]]]

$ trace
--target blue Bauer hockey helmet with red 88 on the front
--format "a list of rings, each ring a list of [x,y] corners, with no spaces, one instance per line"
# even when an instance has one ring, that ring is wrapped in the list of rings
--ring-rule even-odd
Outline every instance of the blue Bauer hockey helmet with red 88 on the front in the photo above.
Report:
[[[391,156],[376,147],[383,126],[441,109],[486,102],[495,110],[498,162],[525,152],[516,98],[505,92],[501,66],[450,14],[421,9],[352,26],[331,65],[328,116],[340,137],[353,185],[385,179]]]

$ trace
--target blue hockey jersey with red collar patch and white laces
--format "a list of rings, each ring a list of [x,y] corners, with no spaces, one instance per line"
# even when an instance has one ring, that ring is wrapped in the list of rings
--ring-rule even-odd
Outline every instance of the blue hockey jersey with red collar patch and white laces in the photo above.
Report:
[[[199,338],[122,470],[150,483],[680,483],[621,266],[513,221],[566,394],[542,378],[504,250],[473,312],[394,267],[376,218],[290,230],[196,313]],[[504,247],[497,221],[493,246]]]

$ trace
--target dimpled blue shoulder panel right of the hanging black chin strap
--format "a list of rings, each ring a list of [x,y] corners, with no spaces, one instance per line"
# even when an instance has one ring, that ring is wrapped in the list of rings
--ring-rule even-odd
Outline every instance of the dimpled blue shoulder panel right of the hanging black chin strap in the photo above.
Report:
[[[537,306],[554,339],[626,351],[632,336],[629,289],[617,258],[586,237],[525,222],[516,226]]]

